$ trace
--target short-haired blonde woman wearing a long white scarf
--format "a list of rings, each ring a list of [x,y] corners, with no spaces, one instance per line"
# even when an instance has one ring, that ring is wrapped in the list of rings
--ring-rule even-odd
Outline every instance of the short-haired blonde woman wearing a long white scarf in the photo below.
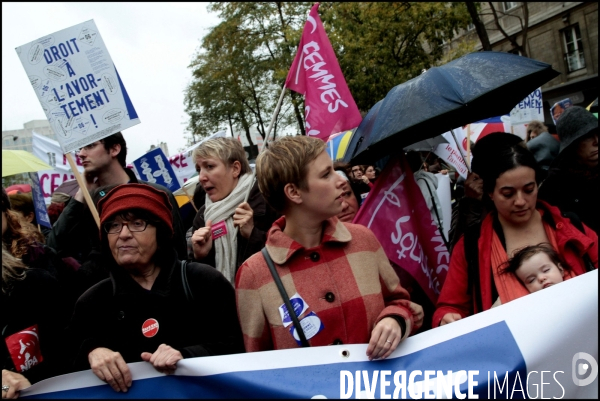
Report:
[[[206,191],[206,204],[194,219],[193,258],[214,264],[233,284],[236,269],[244,261],[237,260],[240,241],[244,242],[244,251],[255,247],[260,250],[274,217],[263,221],[261,227],[255,227],[257,214],[265,215],[266,204],[239,141],[211,139],[194,150],[193,158],[199,174],[198,184]],[[250,242],[253,246],[248,245]],[[211,250],[214,250],[214,261]]]

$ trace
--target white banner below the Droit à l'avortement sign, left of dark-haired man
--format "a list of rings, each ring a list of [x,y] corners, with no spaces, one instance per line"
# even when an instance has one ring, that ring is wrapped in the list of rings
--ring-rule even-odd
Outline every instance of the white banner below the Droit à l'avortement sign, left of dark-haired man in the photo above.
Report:
[[[52,193],[65,181],[74,180],[75,175],[71,171],[66,155],[63,153],[60,144],[44,135],[33,133],[31,140],[33,154],[45,161],[52,167],[53,170],[43,170],[38,172],[40,178],[40,187],[44,195],[46,205],[50,204]],[[77,170],[83,173],[81,160],[77,156],[73,156],[77,163]]]

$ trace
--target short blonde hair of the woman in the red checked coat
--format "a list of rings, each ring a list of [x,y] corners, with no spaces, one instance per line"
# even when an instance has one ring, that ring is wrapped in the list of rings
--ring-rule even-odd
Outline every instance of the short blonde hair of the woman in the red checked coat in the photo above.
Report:
[[[287,184],[306,190],[308,165],[325,150],[325,142],[307,136],[284,136],[256,159],[256,179],[263,197],[273,209],[283,212]]]

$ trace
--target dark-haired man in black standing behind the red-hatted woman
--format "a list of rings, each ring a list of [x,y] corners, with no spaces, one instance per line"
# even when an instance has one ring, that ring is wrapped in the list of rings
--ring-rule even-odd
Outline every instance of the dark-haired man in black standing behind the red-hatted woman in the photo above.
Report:
[[[179,259],[187,259],[185,231],[173,194],[162,185],[138,180],[133,171],[125,167],[127,144],[123,134],[117,132],[86,145],[79,149],[78,156],[83,165],[89,191],[108,185],[140,183],[166,192],[173,207],[174,246]],[[90,274],[96,278],[91,279],[91,284],[97,279],[108,277],[108,272],[105,274],[97,266],[100,246],[98,227],[85,204],[81,188],[66,204],[60,218],[52,227],[52,232],[48,236],[48,245],[61,257],[72,256],[82,263],[82,268],[93,271]]]

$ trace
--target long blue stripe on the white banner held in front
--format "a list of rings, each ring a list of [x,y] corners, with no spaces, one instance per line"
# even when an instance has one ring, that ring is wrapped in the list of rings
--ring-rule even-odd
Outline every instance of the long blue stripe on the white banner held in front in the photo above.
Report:
[[[128,393],[117,393],[108,385],[102,385],[24,398],[312,398],[316,395],[340,398],[341,371],[349,371],[354,379],[356,371],[367,371],[368,380],[372,381],[373,372],[382,370],[391,371],[391,376],[386,378],[390,382],[389,387],[386,387],[388,395],[394,393],[396,386],[393,377],[398,371],[406,371],[405,381],[408,383],[410,373],[415,370],[422,373],[425,370],[441,370],[444,373],[448,370],[453,373],[478,370],[479,374],[475,375],[473,380],[478,383],[474,387],[474,393],[478,394],[479,398],[488,398],[488,372],[491,372],[492,379],[490,388],[493,388],[494,372],[500,384],[505,381],[504,376],[508,372],[508,385],[503,386],[504,391],[496,388],[495,398],[523,398],[524,393],[517,391],[509,394],[509,391],[512,391],[513,384],[516,383],[517,373],[523,381],[527,376],[523,355],[506,322],[501,321],[412,354],[382,361],[332,363],[208,376],[161,376],[136,380]],[[360,390],[364,392],[362,375],[361,372]],[[423,380],[422,375],[415,379],[416,382]],[[344,390],[352,391],[350,398],[357,398],[355,386],[356,383]],[[373,390],[371,385],[369,387]],[[435,386],[433,389],[432,392],[435,391]],[[379,378],[374,390],[373,394],[379,398]],[[467,394],[466,381],[460,385],[460,391]],[[401,393],[399,395],[402,396]],[[423,393],[420,395],[425,398]],[[406,397],[410,398],[408,389]]]

